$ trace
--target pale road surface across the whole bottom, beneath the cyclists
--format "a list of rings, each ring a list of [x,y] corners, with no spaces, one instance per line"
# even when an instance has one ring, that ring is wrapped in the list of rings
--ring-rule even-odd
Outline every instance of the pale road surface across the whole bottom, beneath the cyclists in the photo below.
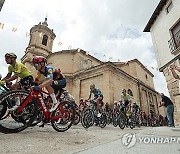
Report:
[[[0,154],[180,154],[180,128],[125,128],[108,125],[85,130],[81,124],[67,132],[50,125],[16,134],[0,133]]]

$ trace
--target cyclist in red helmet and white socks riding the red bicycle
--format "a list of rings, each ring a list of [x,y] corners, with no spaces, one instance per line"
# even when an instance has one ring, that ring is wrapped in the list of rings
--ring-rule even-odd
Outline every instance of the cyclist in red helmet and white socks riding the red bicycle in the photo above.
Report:
[[[35,81],[40,81],[41,75],[45,76],[42,84],[39,86],[34,86],[34,90],[39,90],[41,88],[46,88],[49,95],[52,98],[53,105],[49,112],[54,111],[60,102],[57,101],[55,94],[66,87],[66,79],[59,69],[47,65],[47,60],[43,56],[35,56],[32,60],[34,67],[37,70],[37,76]]]

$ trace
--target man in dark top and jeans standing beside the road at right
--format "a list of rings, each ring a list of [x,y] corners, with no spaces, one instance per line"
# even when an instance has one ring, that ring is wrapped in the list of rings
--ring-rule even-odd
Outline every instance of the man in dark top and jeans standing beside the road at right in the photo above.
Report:
[[[159,107],[165,106],[168,118],[168,126],[174,127],[174,105],[170,98],[165,96],[163,93],[161,93],[160,95],[162,100]]]

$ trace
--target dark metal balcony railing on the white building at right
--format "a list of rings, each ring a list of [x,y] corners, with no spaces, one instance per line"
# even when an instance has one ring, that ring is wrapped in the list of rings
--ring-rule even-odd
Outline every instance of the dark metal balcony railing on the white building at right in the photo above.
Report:
[[[180,30],[168,41],[171,52],[180,47]]]

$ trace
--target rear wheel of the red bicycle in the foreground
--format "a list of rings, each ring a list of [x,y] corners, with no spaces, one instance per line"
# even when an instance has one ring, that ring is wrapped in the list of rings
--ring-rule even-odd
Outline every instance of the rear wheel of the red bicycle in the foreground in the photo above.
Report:
[[[66,113],[62,113],[59,108],[60,105],[63,107]],[[64,116],[64,118],[59,118],[56,120],[51,120],[51,125],[56,131],[65,132],[72,126],[74,122],[75,108],[69,101],[61,102],[60,105],[55,111],[51,113],[51,118],[55,116],[64,116],[64,114],[68,116]]]

